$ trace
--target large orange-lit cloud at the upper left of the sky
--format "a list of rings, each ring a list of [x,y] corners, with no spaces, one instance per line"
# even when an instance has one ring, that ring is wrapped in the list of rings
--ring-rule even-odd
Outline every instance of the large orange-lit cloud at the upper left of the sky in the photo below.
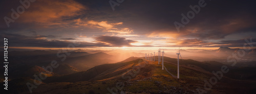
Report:
[[[64,18],[81,14],[86,7],[73,1],[37,0],[29,10],[20,15],[22,22],[35,22],[40,25],[61,25]]]

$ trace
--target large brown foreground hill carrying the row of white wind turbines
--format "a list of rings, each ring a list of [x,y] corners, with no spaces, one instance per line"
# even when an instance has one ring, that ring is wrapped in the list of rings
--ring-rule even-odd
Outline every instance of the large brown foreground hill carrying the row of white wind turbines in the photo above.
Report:
[[[59,89],[67,89],[67,92],[108,93],[108,88],[115,87],[116,83],[122,83],[123,88],[117,90],[118,93],[198,93],[197,88],[204,88],[204,81],[214,76],[211,71],[220,70],[223,65],[215,61],[184,60],[180,63],[180,79],[177,79],[169,74],[177,76],[177,59],[164,57],[164,66],[169,73],[161,69],[162,65],[158,65],[158,61],[133,60],[134,57],[129,59],[131,61],[102,64],[84,72],[49,77],[44,81],[46,84],[38,88],[54,88],[53,86],[57,85],[60,86]],[[255,84],[256,81],[231,79],[224,75],[207,92],[253,93],[256,89]],[[243,88],[240,88],[241,86]],[[59,89],[51,89],[49,92],[61,93],[62,90]],[[40,90],[42,89],[35,89]]]

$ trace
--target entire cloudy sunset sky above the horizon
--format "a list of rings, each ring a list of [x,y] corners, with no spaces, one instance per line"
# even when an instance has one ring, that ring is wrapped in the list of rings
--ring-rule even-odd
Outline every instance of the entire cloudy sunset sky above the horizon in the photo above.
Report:
[[[217,49],[256,41],[255,1],[23,1],[0,2],[10,48]]]

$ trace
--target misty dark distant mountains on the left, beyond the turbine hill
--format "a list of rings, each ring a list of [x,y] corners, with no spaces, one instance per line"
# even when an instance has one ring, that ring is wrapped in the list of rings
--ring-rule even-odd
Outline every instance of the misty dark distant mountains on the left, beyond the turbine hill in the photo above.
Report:
[[[67,75],[87,70],[96,65],[115,63],[115,57],[106,53],[90,54],[87,52],[68,52],[65,61],[61,61],[62,58],[57,57],[55,50],[51,51],[11,51],[9,52],[9,61],[12,62],[9,66],[10,79],[19,77],[32,77],[34,74],[44,72],[41,66],[51,65],[52,60],[56,60],[59,64],[57,68],[53,69],[53,73],[46,72],[48,76],[53,75]],[[60,53],[65,54],[65,53]],[[4,69],[0,67],[0,69]],[[0,76],[0,78],[3,75]]]

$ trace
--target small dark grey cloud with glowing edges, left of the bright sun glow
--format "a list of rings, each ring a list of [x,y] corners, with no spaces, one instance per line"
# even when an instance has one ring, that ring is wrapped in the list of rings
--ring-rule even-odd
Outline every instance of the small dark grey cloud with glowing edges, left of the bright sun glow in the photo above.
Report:
[[[124,37],[116,37],[116,36],[98,36],[94,37],[96,41],[106,42],[113,46],[131,46],[130,43],[134,43],[137,41],[127,40]]]

